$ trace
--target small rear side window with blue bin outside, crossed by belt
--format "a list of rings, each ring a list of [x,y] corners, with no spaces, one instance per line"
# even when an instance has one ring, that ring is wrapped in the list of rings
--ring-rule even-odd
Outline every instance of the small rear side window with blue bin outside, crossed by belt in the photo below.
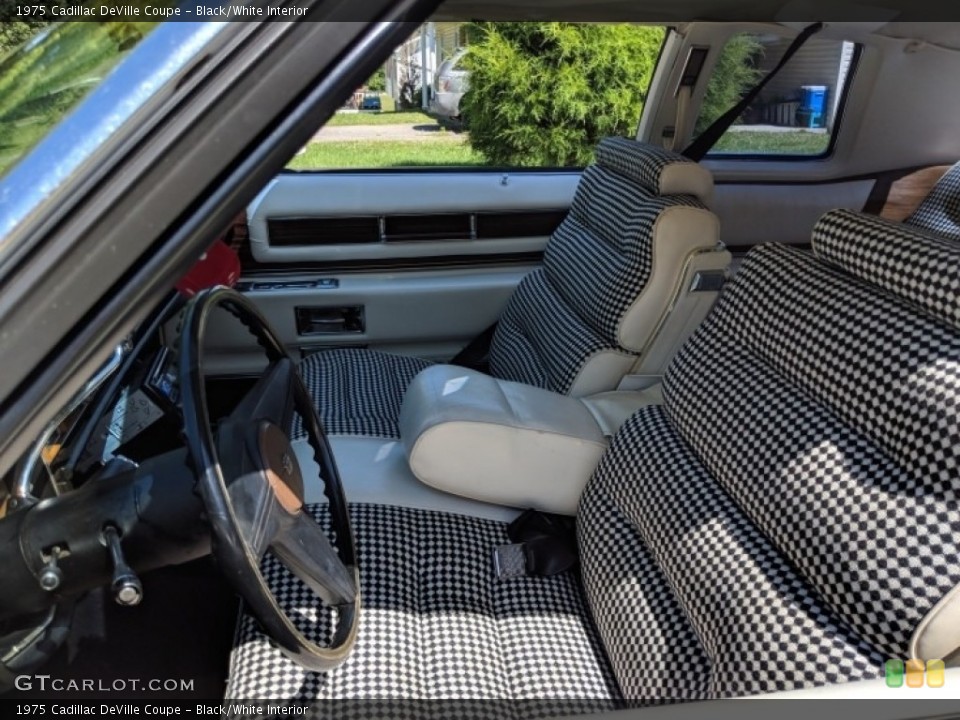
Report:
[[[741,33],[707,85],[695,135],[735,105],[783,57],[792,38]],[[829,152],[857,56],[851,42],[813,37],[727,130],[711,155],[821,157]]]

